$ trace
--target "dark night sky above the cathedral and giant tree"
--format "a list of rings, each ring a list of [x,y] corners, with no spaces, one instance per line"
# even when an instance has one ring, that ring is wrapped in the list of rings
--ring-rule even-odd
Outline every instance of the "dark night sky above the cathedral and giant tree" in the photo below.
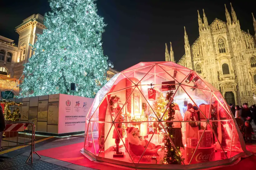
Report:
[[[233,2],[233,1],[232,1]],[[185,53],[184,26],[190,45],[199,36],[197,10],[203,8],[208,23],[215,18],[226,21],[226,3],[231,16],[230,1],[171,1],[171,0],[98,0],[98,14],[107,24],[102,34],[104,54],[122,71],[142,61],[164,61],[165,43],[174,50],[178,61]],[[256,17],[254,1],[233,2],[241,29],[254,33],[251,12]],[[5,0],[0,8],[0,35],[18,42],[15,27],[32,14],[50,11],[48,0]],[[202,18],[203,20],[203,18]]]

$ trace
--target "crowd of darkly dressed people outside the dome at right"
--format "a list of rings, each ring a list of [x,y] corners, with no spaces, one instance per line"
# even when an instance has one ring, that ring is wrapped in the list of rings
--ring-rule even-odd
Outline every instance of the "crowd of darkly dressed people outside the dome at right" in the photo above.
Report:
[[[251,124],[256,123],[256,105],[254,104],[248,107],[248,103],[243,103],[243,106],[236,105],[234,107],[234,105],[230,103],[229,106],[244,136],[245,142],[252,143],[254,131]]]

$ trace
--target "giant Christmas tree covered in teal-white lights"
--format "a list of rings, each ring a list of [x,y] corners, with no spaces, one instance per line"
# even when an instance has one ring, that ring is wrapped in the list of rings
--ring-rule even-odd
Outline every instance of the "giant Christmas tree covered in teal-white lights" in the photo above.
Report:
[[[47,29],[32,45],[34,55],[24,64],[19,97],[73,94],[94,97],[106,83],[107,57],[101,34],[106,26],[94,0],[49,0]]]

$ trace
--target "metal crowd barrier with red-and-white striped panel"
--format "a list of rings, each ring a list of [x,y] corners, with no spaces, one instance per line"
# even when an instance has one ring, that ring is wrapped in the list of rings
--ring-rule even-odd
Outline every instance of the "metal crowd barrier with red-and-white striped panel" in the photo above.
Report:
[[[30,129],[32,129],[32,134],[30,135]],[[28,130],[28,133],[26,132]],[[33,163],[33,154],[37,154],[40,158],[41,156],[35,151],[35,124],[33,122],[6,122],[6,128],[3,131],[5,134],[5,139],[2,141],[8,141],[7,146],[3,147],[12,147],[19,145],[31,145],[31,152],[26,161],[31,157],[31,163]],[[20,135],[20,137],[19,137]],[[26,138],[27,136],[27,138]],[[31,136],[31,139],[30,139]],[[7,140],[8,138],[8,140]],[[10,140],[11,138],[11,140]],[[24,142],[23,142],[24,139]],[[16,145],[9,145],[11,143],[16,143]]]

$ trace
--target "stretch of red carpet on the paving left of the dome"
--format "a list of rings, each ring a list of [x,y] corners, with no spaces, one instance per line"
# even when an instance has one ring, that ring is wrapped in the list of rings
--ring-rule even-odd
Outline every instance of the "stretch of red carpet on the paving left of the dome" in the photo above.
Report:
[[[110,165],[104,165],[101,163],[96,163],[94,161],[90,161],[83,154],[80,153],[81,148],[83,148],[84,143],[72,144],[61,146],[57,148],[45,149],[37,151],[38,154],[42,156],[47,156],[50,158],[66,161],[69,163],[74,163],[76,165],[81,165],[89,168],[95,169],[114,169],[116,167]],[[118,168],[118,170],[127,170],[124,168]]]

